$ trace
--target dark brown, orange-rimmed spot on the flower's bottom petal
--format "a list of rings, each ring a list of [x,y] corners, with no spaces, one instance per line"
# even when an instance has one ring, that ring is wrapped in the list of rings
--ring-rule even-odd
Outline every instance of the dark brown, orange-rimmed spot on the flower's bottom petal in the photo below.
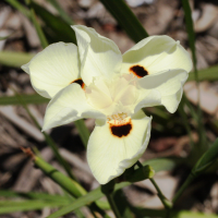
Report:
[[[110,131],[111,131],[112,135],[114,135],[117,137],[128,136],[130,134],[131,130],[132,130],[131,121],[128,123],[118,124],[118,125],[110,123]]]

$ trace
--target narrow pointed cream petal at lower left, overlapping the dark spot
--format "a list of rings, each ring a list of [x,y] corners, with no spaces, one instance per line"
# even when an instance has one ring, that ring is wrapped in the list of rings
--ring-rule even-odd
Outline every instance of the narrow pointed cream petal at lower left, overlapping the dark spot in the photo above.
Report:
[[[81,118],[105,119],[105,116],[87,104],[84,90],[74,83],[60,90],[49,102],[43,131]]]

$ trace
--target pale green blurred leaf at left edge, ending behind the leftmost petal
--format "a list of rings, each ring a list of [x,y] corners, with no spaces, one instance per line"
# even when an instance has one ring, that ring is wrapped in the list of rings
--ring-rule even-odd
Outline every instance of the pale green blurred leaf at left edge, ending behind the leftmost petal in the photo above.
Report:
[[[21,65],[31,61],[34,57],[32,53],[26,52],[13,52],[13,51],[1,51],[0,52],[0,64],[21,68]]]

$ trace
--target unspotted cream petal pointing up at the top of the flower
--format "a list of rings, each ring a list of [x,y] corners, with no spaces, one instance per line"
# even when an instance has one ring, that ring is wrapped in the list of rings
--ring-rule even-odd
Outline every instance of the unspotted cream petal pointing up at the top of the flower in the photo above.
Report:
[[[104,75],[108,78],[120,72],[122,56],[117,45],[86,26],[74,25],[80,58],[82,78],[86,85],[94,76]]]

